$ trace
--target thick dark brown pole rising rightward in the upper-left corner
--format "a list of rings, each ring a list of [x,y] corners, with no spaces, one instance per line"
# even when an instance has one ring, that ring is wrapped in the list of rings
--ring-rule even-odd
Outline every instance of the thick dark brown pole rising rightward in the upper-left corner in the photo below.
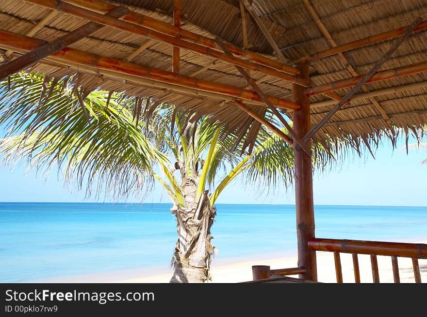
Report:
[[[120,16],[125,15],[129,10],[126,7],[120,6],[111,10],[106,15],[111,16],[112,18],[119,18]],[[21,70],[24,70],[33,63],[43,59],[46,56],[49,56],[53,53],[56,53],[67,46],[80,41],[82,38],[92,34],[96,30],[104,27],[102,24],[89,22],[85,25],[82,25],[80,28],[73,30],[67,33],[64,36],[61,36],[50,43],[38,46],[34,48],[31,52],[28,52],[15,60],[10,60],[7,63],[1,65],[0,67],[0,80],[17,73]]]

